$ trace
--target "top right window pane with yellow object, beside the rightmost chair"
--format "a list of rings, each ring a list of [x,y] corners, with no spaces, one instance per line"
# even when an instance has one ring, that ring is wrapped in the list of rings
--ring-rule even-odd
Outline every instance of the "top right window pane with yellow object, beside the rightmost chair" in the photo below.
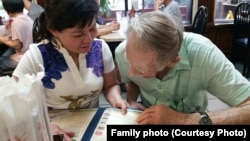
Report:
[[[241,2],[250,0],[217,0],[215,3],[215,23],[233,23],[233,15],[236,7]]]

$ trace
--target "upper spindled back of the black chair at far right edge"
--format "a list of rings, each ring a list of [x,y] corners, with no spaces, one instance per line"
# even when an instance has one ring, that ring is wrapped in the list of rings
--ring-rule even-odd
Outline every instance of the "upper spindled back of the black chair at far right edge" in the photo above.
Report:
[[[250,4],[247,2],[240,3],[234,11],[233,39],[240,38],[250,38]]]

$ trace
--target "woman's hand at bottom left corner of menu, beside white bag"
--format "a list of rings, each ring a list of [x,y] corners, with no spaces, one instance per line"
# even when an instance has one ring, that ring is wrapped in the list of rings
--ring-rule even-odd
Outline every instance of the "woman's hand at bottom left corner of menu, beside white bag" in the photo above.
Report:
[[[54,124],[50,124],[50,131],[51,131],[52,135],[63,134],[64,141],[72,141],[71,138],[74,137],[74,135],[75,135],[74,132],[72,132],[72,131],[64,131],[59,126],[54,125]]]

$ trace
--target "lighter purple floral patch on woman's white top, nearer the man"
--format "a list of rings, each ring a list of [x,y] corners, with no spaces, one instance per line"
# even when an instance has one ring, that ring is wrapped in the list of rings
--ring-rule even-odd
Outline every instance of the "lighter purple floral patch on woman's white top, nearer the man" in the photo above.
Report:
[[[93,73],[100,77],[103,75],[102,42],[94,40],[92,47],[86,55],[87,68],[93,68]]]

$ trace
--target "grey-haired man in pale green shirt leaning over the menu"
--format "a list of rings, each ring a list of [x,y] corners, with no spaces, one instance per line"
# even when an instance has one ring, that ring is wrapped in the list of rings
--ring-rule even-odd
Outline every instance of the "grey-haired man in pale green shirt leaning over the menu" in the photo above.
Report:
[[[131,21],[116,49],[127,100],[144,110],[138,123],[250,124],[250,82],[209,39],[183,33],[173,21],[162,12],[145,13]],[[231,108],[206,112],[204,91]]]

